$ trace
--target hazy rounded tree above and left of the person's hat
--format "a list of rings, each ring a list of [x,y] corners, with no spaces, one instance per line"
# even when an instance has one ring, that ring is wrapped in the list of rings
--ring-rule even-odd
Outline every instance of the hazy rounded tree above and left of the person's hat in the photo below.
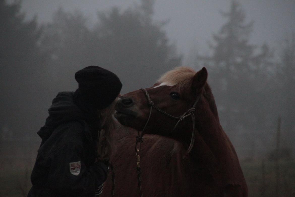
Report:
[[[51,91],[73,91],[77,88],[74,74],[83,67],[97,64],[91,57],[91,30],[81,12],[65,12],[59,8],[53,22],[44,28],[41,39],[43,51],[50,53]],[[98,55],[98,54],[97,54]]]

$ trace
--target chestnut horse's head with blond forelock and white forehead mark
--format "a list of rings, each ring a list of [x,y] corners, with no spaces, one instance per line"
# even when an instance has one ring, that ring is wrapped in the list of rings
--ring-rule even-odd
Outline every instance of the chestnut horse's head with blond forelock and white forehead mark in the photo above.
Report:
[[[186,115],[201,110],[207,75],[205,68],[198,72],[186,67],[168,71],[152,87],[122,95],[115,117],[121,124],[138,131],[142,131],[149,120],[144,133],[188,141],[193,122]],[[150,114],[151,105],[162,112],[153,109]]]

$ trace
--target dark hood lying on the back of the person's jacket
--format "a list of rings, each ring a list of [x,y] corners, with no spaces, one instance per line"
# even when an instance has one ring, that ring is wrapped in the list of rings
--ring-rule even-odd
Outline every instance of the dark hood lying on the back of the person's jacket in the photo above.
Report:
[[[53,99],[51,107],[48,109],[49,116],[37,134],[42,140],[47,139],[54,128],[60,124],[75,121],[86,120],[82,110],[74,103],[75,92],[59,92]]]

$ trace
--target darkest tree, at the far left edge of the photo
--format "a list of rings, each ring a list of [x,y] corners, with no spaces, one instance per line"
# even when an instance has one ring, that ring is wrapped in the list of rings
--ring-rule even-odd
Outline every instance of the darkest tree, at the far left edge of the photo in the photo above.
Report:
[[[24,20],[20,3],[0,0],[0,127],[18,136],[41,126],[40,110],[47,97],[40,92],[47,81],[46,54],[38,47],[41,33],[35,18]]]

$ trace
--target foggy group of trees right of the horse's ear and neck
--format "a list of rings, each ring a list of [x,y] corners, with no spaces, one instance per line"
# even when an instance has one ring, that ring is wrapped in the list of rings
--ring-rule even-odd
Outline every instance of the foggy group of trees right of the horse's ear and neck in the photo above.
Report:
[[[209,43],[210,54],[195,54],[197,68],[206,66],[217,100],[222,126],[240,147],[271,146],[279,117],[283,120],[283,144],[295,142],[295,34],[282,36],[280,60],[267,43],[249,43],[254,22],[246,22],[240,3],[231,2],[221,12],[226,22]]]

